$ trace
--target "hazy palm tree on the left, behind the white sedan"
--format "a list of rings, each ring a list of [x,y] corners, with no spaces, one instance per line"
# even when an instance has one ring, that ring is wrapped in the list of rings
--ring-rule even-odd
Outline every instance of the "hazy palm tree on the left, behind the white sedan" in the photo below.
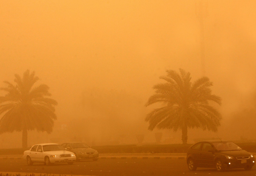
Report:
[[[4,81],[6,87],[0,88],[6,92],[0,96],[0,133],[22,131],[22,147],[27,148],[28,130],[52,132],[57,102],[51,98],[49,87],[45,84],[33,85],[39,78],[35,72],[25,71],[23,77],[15,74],[13,85]]]

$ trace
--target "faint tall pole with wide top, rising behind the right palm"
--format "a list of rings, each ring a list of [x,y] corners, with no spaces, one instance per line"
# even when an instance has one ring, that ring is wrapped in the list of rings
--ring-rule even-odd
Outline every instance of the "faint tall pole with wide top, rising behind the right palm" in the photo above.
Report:
[[[196,16],[199,19],[200,25],[200,58],[201,58],[201,71],[205,76],[205,53],[204,53],[204,19],[208,16],[207,0],[199,0],[196,3]]]

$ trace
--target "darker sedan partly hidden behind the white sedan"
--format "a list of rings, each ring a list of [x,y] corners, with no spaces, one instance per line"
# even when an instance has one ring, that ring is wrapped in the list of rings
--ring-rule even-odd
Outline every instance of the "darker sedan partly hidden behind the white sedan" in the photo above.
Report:
[[[76,161],[80,159],[92,159],[97,161],[99,159],[99,152],[90,148],[88,145],[82,142],[69,142],[61,144],[66,150],[76,154]]]

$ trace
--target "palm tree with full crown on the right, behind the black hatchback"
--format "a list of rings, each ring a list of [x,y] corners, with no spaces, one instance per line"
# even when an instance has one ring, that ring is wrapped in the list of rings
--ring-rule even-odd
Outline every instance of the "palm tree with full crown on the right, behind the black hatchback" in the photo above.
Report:
[[[213,101],[221,105],[221,98],[213,95],[208,77],[201,77],[191,83],[190,73],[180,68],[180,74],[174,70],[166,70],[167,76],[160,76],[167,82],[156,84],[155,94],[146,106],[161,102],[164,106],[153,109],[145,118],[149,122],[148,129],[182,130],[182,143],[187,144],[188,128],[202,128],[217,132],[221,115],[217,109],[209,105]]]

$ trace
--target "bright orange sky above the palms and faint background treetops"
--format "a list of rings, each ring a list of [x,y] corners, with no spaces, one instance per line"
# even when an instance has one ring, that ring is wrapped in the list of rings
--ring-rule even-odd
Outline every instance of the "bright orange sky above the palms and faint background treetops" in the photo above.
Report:
[[[59,102],[59,119],[70,118],[81,94],[95,87],[124,90],[145,109],[166,69],[202,76],[196,2],[2,1],[0,85],[36,71]],[[224,118],[255,93],[255,7],[256,1],[208,3],[206,76],[223,98]]]

